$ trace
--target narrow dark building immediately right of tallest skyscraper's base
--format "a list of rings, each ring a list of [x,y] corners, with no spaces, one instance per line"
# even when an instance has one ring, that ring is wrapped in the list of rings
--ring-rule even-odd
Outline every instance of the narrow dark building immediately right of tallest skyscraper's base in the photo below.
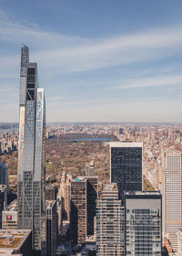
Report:
[[[57,246],[57,212],[55,200],[46,200],[46,243],[47,256],[54,255]]]

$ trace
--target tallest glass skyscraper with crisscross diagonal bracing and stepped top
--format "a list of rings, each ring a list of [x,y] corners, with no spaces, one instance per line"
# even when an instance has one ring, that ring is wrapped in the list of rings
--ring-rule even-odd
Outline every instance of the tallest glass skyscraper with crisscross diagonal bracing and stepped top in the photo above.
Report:
[[[33,249],[41,250],[45,216],[45,96],[38,88],[36,63],[22,48],[17,177],[18,229],[32,229]]]

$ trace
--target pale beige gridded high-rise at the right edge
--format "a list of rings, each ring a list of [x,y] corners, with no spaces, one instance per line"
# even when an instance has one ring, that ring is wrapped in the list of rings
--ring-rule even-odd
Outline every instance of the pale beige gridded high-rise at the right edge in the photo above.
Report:
[[[162,164],[163,233],[177,251],[177,232],[182,229],[182,153],[169,149]]]

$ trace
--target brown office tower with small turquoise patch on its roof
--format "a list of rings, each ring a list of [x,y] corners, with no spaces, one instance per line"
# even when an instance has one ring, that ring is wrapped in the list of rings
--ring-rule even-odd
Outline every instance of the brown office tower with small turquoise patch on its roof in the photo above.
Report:
[[[86,242],[86,178],[71,180],[70,236],[74,243]]]

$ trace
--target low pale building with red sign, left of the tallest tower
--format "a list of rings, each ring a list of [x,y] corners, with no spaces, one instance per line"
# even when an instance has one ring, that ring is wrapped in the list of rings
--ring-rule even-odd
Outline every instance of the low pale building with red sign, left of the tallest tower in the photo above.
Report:
[[[17,200],[15,199],[2,212],[2,229],[17,229]]]

